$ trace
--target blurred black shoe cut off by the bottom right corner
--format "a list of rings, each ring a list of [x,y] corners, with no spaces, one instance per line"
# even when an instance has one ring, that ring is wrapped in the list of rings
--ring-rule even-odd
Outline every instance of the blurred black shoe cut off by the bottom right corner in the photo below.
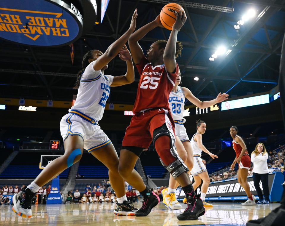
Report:
[[[250,220],[246,223],[246,226],[283,226],[284,225],[285,208],[279,206],[271,211],[266,217],[259,218],[257,220]]]

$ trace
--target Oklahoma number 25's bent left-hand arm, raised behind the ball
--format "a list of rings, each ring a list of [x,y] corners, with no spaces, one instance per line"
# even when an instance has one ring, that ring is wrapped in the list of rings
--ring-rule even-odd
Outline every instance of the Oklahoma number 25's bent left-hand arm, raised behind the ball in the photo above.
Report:
[[[160,22],[159,16],[150,23],[144,25],[129,37],[128,44],[135,64],[139,64],[143,57],[143,49],[140,47],[138,41],[142,39],[149,31],[156,27],[163,27]]]

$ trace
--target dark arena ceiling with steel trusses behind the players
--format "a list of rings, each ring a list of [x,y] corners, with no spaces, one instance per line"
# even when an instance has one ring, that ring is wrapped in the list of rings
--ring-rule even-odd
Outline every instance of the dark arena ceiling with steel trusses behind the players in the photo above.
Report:
[[[159,3],[161,2],[161,3]],[[153,20],[165,5],[160,0],[110,0],[102,24],[75,41],[74,65],[70,47],[30,47],[0,39],[0,97],[71,100],[74,83],[85,52],[105,51],[128,28],[131,15],[138,9],[137,28]],[[189,4],[191,1],[185,1]],[[285,31],[285,0],[202,0],[197,3],[234,8],[226,13],[183,6],[187,21],[178,33],[183,44],[177,62],[183,86],[207,100],[219,92],[246,95],[266,92],[278,83],[281,45]],[[256,14],[239,25],[238,21],[253,9]],[[156,28],[140,44],[143,50],[158,39],[167,39],[170,31]],[[227,55],[209,58],[223,46]],[[126,66],[116,57],[105,74],[122,75]],[[136,71],[136,70],[135,70]],[[114,87],[108,102],[133,104],[139,75],[134,83]],[[199,80],[194,80],[198,77]]]

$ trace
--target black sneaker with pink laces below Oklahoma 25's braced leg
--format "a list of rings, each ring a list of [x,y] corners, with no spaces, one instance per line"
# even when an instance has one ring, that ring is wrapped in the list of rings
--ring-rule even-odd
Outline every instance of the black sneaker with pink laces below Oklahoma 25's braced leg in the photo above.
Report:
[[[200,195],[189,196],[187,199],[187,207],[183,214],[178,215],[178,220],[196,220],[205,214],[205,207]]]

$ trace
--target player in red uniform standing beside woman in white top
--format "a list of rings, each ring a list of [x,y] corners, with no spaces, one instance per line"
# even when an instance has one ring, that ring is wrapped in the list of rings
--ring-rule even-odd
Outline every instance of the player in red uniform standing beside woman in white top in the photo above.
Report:
[[[244,203],[241,203],[243,206],[255,205],[256,198],[250,191],[250,187],[247,182],[248,169],[250,168],[251,159],[248,155],[246,145],[243,139],[238,135],[238,127],[232,126],[229,129],[229,133],[233,139],[232,147],[235,150],[235,160],[231,165],[231,170],[234,170],[235,164],[238,163],[238,182],[243,187],[248,197]]]

